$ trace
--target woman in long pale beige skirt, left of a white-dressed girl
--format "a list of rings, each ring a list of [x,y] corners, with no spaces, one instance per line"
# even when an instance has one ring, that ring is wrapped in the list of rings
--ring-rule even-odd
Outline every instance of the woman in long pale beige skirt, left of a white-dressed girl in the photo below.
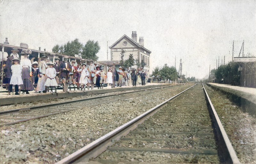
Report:
[[[39,62],[39,79],[37,82],[37,86],[36,86],[36,91],[39,93],[46,93],[46,89],[45,89],[45,82],[46,82],[46,69],[48,68],[47,66],[47,57],[46,54],[42,54],[41,56],[41,61]]]

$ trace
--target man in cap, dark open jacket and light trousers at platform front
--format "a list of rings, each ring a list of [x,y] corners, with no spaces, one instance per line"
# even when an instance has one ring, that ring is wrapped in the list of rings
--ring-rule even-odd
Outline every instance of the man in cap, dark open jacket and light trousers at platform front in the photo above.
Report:
[[[71,72],[71,65],[68,62],[68,56],[64,57],[64,62],[60,64],[60,77],[62,80],[62,88],[63,92],[69,92],[68,91],[68,79],[69,79],[69,73]]]

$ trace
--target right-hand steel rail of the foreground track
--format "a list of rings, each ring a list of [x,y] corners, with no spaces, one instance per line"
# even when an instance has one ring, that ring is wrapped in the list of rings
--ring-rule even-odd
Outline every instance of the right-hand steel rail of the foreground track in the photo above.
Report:
[[[202,85],[204,88],[203,83],[202,83]],[[235,152],[230,140],[228,139],[228,135],[227,135],[224,127],[221,124],[220,118],[219,118],[217,112],[215,111],[214,106],[212,105],[210,97],[208,96],[205,88],[204,88],[204,94],[205,94],[205,98],[207,101],[209,113],[212,118],[212,122],[213,122],[213,126],[214,126],[213,130],[215,131],[218,141],[221,142],[221,144],[218,145],[220,148],[220,151],[221,151],[220,153],[223,155],[225,162],[240,164],[240,161],[236,156],[236,152]]]

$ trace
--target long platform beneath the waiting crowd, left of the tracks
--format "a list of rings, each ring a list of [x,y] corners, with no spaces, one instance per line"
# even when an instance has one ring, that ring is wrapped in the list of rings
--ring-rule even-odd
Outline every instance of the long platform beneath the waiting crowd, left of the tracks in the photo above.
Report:
[[[156,88],[156,87],[164,87],[168,85],[177,85],[177,84],[164,84],[164,83],[147,83],[146,85],[138,85],[138,86],[122,86],[115,87],[109,89],[108,87],[104,87],[103,89],[98,89],[94,87],[94,89],[85,89],[85,92],[77,91],[74,92],[73,89],[69,93],[63,92],[62,89],[58,89],[58,94],[51,93],[35,93],[34,91],[29,91],[29,94],[20,94],[20,95],[7,95],[6,89],[0,89],[0,106],[8,105],[8,104],[17,104],[17,103],[28,103],[34,101],[42,101],[42,100],[50,100],[56,98],[66,98],[66,97],[76,97],[76,96],[86,96],[86,95],[94,95],[94,94],[104,94],[116,91],[127,91],[127,90],[139,90],[139,89],[147,89],[147,88]],[[53,90],[54,91],[54,90]],[[22,93],[22,92],[21,92]]]

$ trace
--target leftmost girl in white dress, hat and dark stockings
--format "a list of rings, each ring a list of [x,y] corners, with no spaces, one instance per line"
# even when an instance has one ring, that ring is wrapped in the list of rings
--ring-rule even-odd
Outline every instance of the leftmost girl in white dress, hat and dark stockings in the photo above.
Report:
[[[19,88],[19,95],[20,95],[20,85],[23,84],[22,78],[21,78],[21,72],[22,72],[22,66],[19,64],[20,59],[19,58],[13,58],[12,62],[14,63],[11,66],[12,69],[12,77],[10,80],[10,84],[12,84],[12,95],[15,90],[15,85],[18,85]]]

